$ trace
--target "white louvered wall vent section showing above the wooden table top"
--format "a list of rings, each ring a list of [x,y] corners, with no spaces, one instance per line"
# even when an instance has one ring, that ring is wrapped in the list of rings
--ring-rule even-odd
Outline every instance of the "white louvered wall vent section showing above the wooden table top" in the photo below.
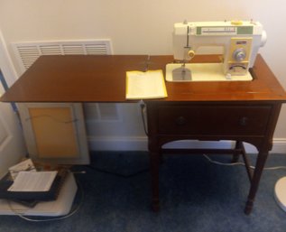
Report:
[[[42,55],[108,55],[112,53],[110,40],[17,42],[13,43],[22,71]]]

